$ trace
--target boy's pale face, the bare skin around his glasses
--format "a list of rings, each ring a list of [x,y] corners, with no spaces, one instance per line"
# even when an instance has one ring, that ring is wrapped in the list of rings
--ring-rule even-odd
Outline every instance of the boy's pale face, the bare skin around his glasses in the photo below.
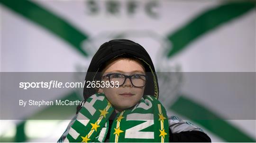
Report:
[[[143,74],[144,67],[135,60],[120,58],[110,63],[103,71],[103,76],[109,73],[121,73],[125,75]],[[107,81],[108,79],[104,80]],[[119,83],[122,84],[122,83]],[[123,111],[136,105],[143,96],[144,87],[134,87],[127,78],[119,88],[100,88],[99,93],[104,92],[107,99],[116,110]]]

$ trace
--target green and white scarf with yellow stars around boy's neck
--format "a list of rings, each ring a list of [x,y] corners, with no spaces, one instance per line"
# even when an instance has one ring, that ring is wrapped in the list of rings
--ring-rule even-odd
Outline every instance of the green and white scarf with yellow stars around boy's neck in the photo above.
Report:
[[[104,93],[92,95],[64,142],[104,142],[114,110]],[[117,114],[110,129],[110,142],[169,142],[165,107],[153,96],[143,96],[135,107]]]

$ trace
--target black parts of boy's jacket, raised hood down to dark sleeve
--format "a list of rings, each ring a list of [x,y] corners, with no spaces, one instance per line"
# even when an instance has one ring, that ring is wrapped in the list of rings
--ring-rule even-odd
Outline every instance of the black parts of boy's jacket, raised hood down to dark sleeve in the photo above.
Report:
[[[126,39],[116,39],[111,40],[109,42],[101,45],[99,50],[93,56],[88,71],[86,73],[85,80],[93,81],[98,80],[100,78],[99,72],[101,72],[104,63],[114,59],[118,56],[125,57],[135,57],[144,64],[147,81],[146,87],[144,90],[145,95],[154,95],[155,98],[159,96],[159,87],[157,82],[157,76],[155,73],[154,64],[146,52],[146,50],[139,44],[126,40]],[[86,101],[91,95],[95,94],[96,90],[93,88],[86,88],[87,85],[84,86],[83,89],[83,98]],[[81,109],[81,106],[77,107],[77,113]],[[115,116],[115,113],[111,116]],[[112,121],[110,121],[111,125]],[[111,128],[111,127],[110,127]],[[210,142],[210,138],[200,131],[188,131],[181,132],[177,134],[172,134],[170,130],[170,142]],[[109,136],[109,134],[108,134]],[[107,138],[108,138],[107,136]],[[108,139],[106,140],[108,141]]]

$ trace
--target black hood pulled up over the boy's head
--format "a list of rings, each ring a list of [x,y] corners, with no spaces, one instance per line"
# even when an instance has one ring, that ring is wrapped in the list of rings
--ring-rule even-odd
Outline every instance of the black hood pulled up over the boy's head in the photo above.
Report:
[[[155,98],[158,98],[159,88],[157,77],[155,74],[155,67],[149,54],[141,45],[126,39],[111,40],[101,45],[101,47],[91,60],[85,80],[95,80],[95,77],[97,77],[97,73],[100,72],[100,68],[104,63],[124,54],[136,57],[140,59],[142,63],[144,63],[146,74],[148,77],[148,80],[146,81],[144,95],[152,95],[155,96]],[[94,88],[86,88],[86,86],[87,84],[84,86],[83,89],[84,100],[86,100],[96,92]]]

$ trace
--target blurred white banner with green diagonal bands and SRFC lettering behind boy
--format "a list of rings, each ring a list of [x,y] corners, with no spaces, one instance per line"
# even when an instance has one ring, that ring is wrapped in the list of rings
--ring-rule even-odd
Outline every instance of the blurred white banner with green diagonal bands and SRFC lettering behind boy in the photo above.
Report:
[[[256,142],[254,0],[1,0],[1,116],[18,105],[3,82],[17,81],[13,72],[84,73],[84,80],[100,45],[118,38],[150,54],[168,115],[200,126],[212,142]],[[82,100],[80,89],[49,95]],[[1,142],[56,142],[75,107],[64,109],[66,120],[30,118],[53,110],[1,117]]]

